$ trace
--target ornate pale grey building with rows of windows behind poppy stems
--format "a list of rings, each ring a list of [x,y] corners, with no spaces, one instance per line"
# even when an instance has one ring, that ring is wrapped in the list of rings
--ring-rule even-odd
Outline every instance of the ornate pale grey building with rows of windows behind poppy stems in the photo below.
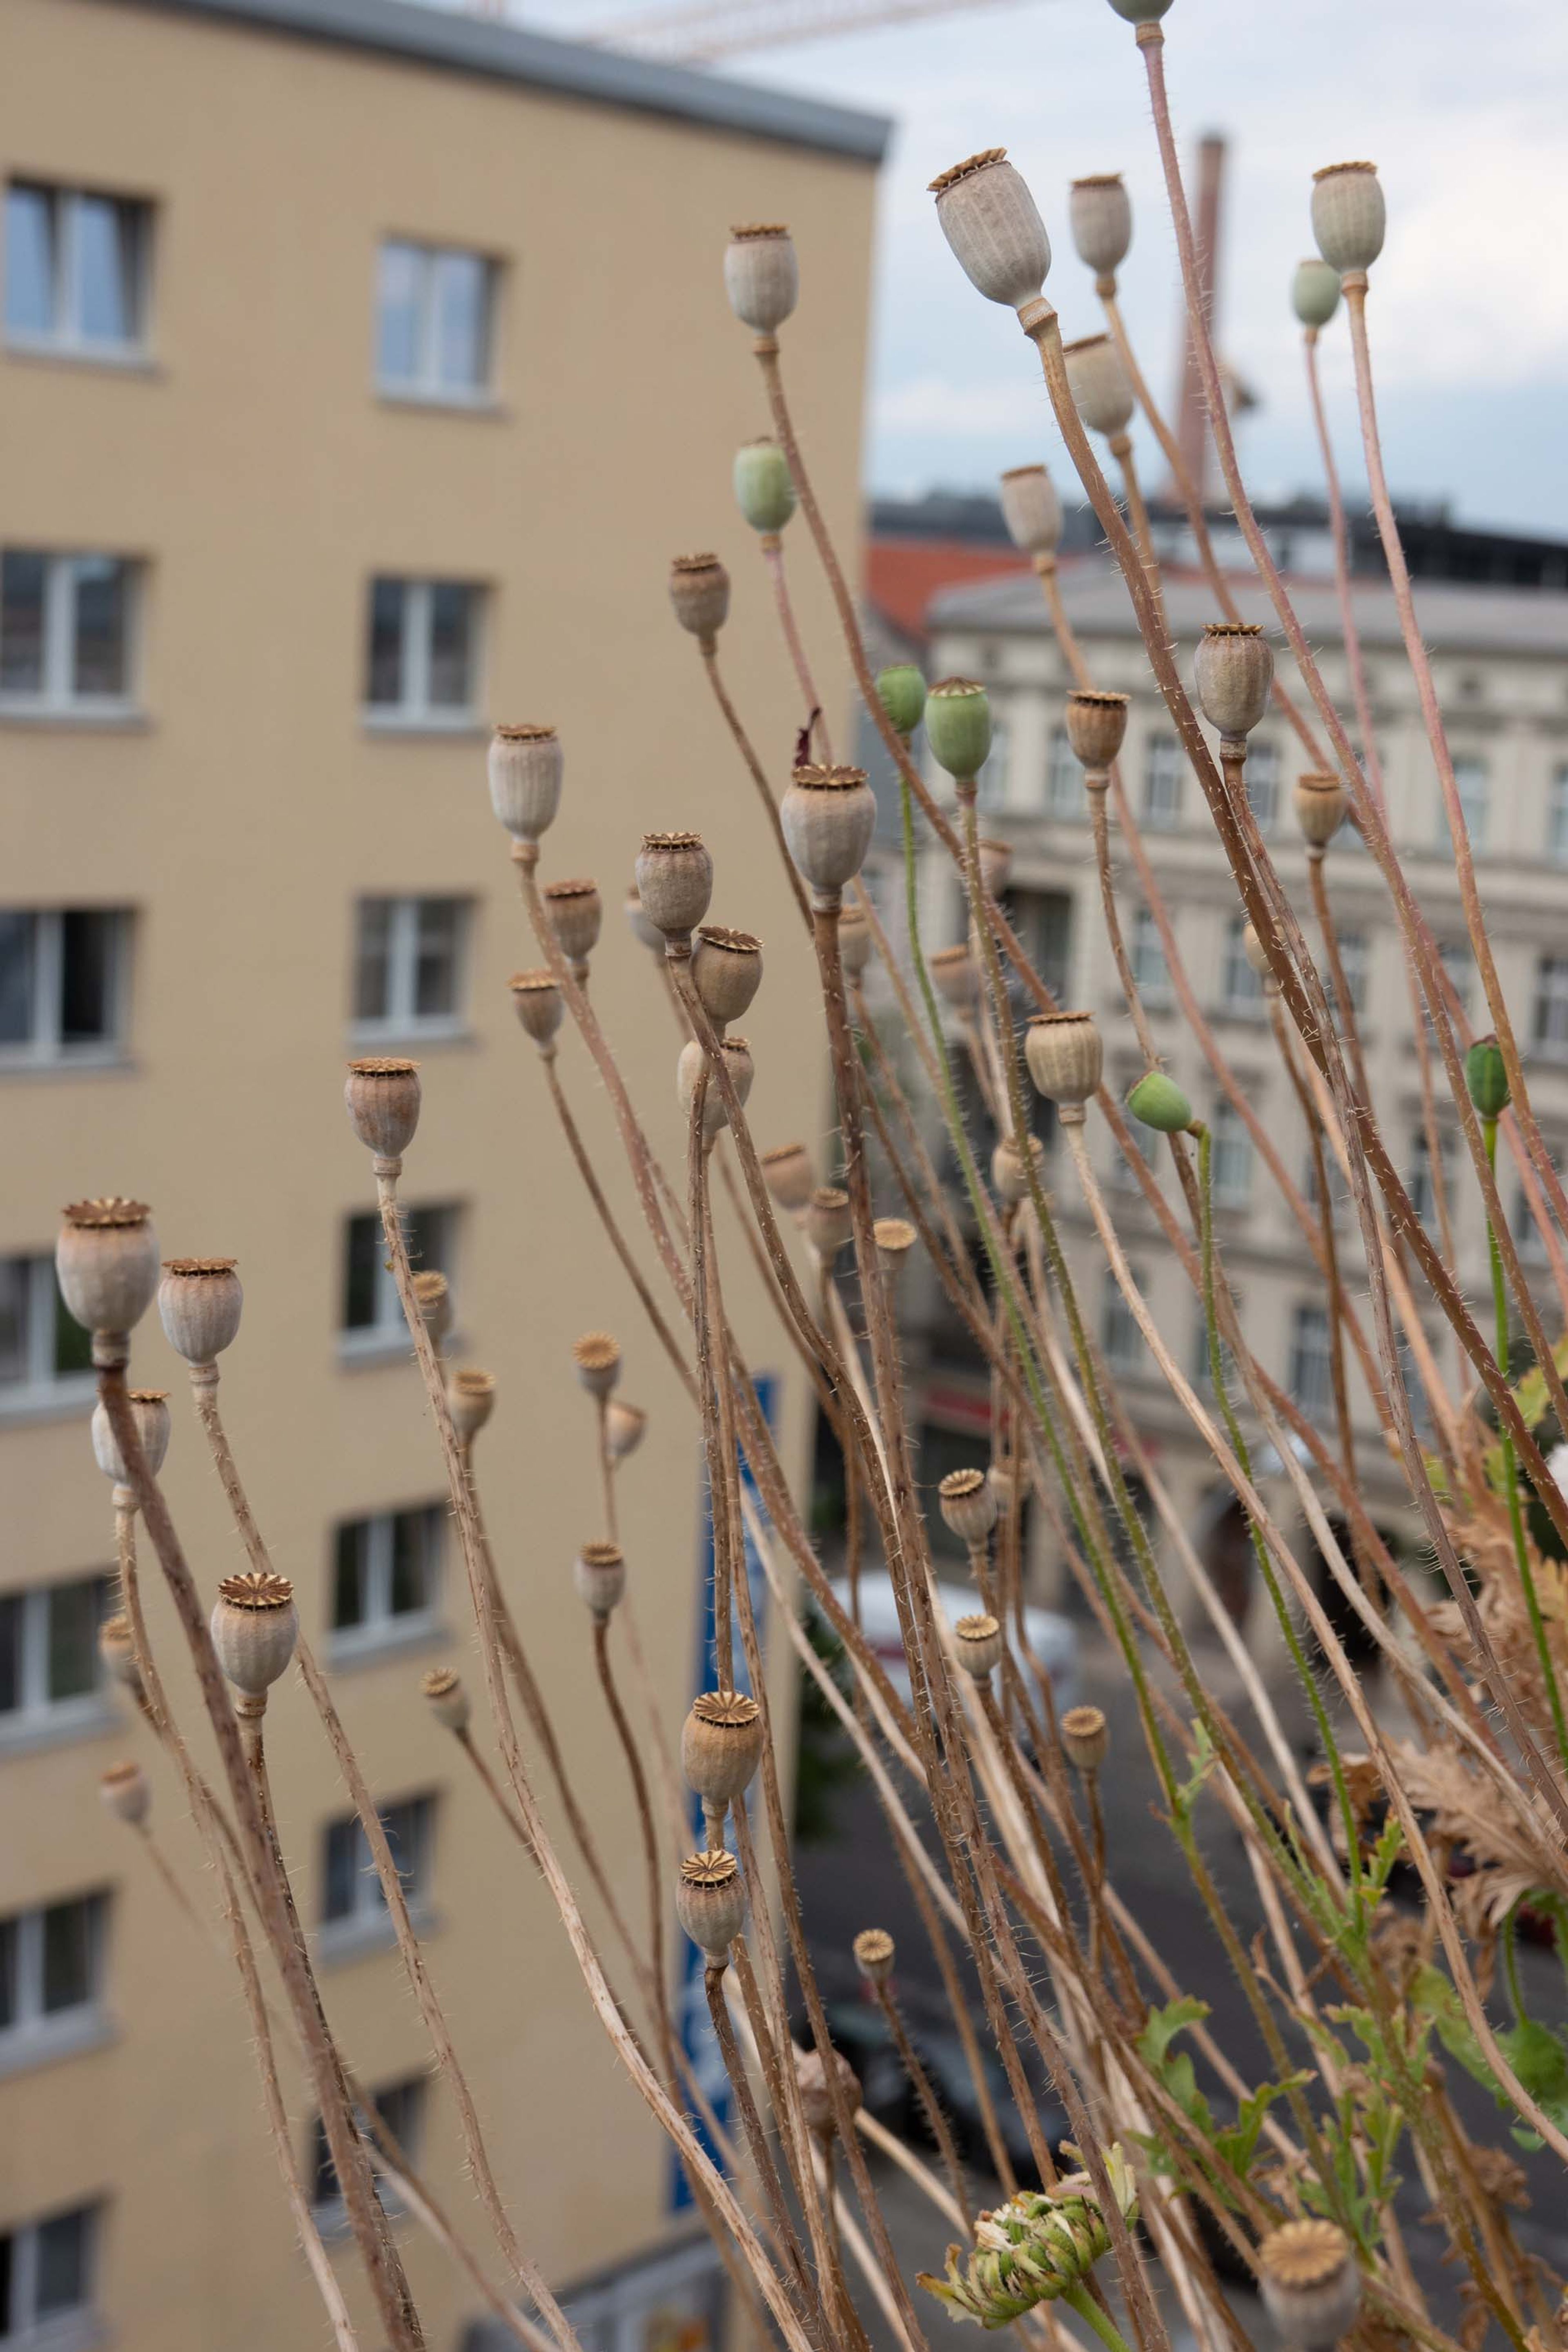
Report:
[[[1251,583],[1234,586],[1244,619],[1272,623],[1262,595]],[[1293,595],[1328,689],[1340,708],[1349,710],[1333,586],[1305,579]],[[1312,1197],[1307,1134],[1269,1035],[1262,985],[1244,955],[1239,894],[1199,783],[1150,675],[1124,586],[1103,560],[1081,557],[1063,564],[1063,600],[1095,684],[1131,696],[1121,774],[1171,908],[1175,943],[1197,1002],[1262,1127],[1279,1145],[1288,1174]],[[1568,595],[1547,586],[1422,581],[1415,602],[1432,649],[1497,969],[1519,1037],[1528,1047],[1537,1115],[1552,1148],[1559,1150],[1568,1145]],[[1190,677],[1204,621],[1213,619],[1211,593],[1192,572],[1173,569],[1166,581],[1166,609],[1178,663]],[[1371,673],[1373,727],[1394,840],[1429,913],[1460,1002],[1479,1028],[1488,1028],[1465,938],[1439,781],[1387,583],[1356,579],[1354,609]],[[1063,701],[1072,680],[1048,630],[1039,588],[1032,576],[1023,576],[952,590],[938,597],[931,630],[931,675],[980,677],[994,701],[997,748],[980,793],[987,830],[1013,847],[1009,884],[1013,924],[1032,946],[1058,997],[1098,1016],[1105,1033],[1107,1084],[1124,1091],[1140,1075],[1143,1058],[1105,934],[1084,776],[1063,724]],[[1279,642],[1276,659],[1279,675],[1298,691],[1300,682]],[[1300,701],[1307,701],[1305,691]],[[1269,713],[1251,739],[1248,790],[1307,936],[1316,938],[1307,858],[1291,809],[1293,783],[1305,764],[1288,724]],[[1253,1345],[1302,1411],[1331,1423],[1321,1282],[1244,1120],[1218,1089],[1178,1009],[1159,929],[1119,844],[1114,866],[1131,964],[1161,1056],[1213,1129],[1215,1230]],[[1467,1294],[1483,1305],[1490,1301],[1490,1289],[1481,1202],[1450,1112],[1439,1122],[1441,1171],[1429,1164],[1399,931],[1378,868],[1352,828],[1342,828],[1328,849],[1326,875],[1368,1084],[1385,1134],[1432,1230],[1436,1230],[1434,1178],[1441,1174],[1458,1272]],[[926,868],[924,891],[931,936],[959,936],[957,889],[938,866]],[[1446,1101],[1441,1065],[1439,1096]],[[1161,1331],[1192,1383],[1204,1390],[1208,1385],[1204,1319],[1187,1279],[1131,1183],[1110,1129],[1091,1122],[1091,1145],[1098,1176],[1117,1207],[1128,1258]],[[1159,1138],[1150,1136],[1154,1167],[1164,1160],[1157,1145]],[[1074,1197],[1072,1169],[1053,1164],[1053,1181],[1070,1261],[1105,1357],[1135,1404],[1147,1449],[1215,1583],[1234,1613],[1267,1646],[1274,1639],[1274,1621],[1253,1606],[1251,1552],[1234,1496],[1215,1479],[1208,1454],[1147,1357],[1098,1237]],[[1168,1164],[1164,1181],[1173,1183]],[[1338,1192],[1338,1185],[1333,1188]],[[1542,1263],[1540,1235],[1507,1164],[1502,1190],[1516,1218],[1526,1263]],[[1335,1216],[1352,1268],[1349,1282],[1361,1289],[1363,1277],[1354,1270],[1359,1240],[1345,1197],[1335,1200]],[[1455,1374],[1453,1341],[1436,1315],[1429,1336],[1443,1369]],[[936,1310],[926,1359],[926,1446],[933,1475],[936,1468],[947,1468],[950,1456],[971,1456],[983,1439],[987,1392],[966,1369],[954,1336]],[[1389,1534],[1406,1534],[1410,1512],[1403,1477],[1389,1461],[1368,1397],[1354,1378],[1352,1392],[1361,1486]],[[1269,1494],[1281,1524],[1298,1524],[1288,1482],[1274,1475]],[[1305,1526],[1300,1541],[1305,1557],[1314,1557]],[[1058,1590],[1058,1564],[1048,1557],[1044,1531],[1039,1543],[1037,1576],[1046,1590]],[[1070,1592],[1063,1597],[1070,1599]]]

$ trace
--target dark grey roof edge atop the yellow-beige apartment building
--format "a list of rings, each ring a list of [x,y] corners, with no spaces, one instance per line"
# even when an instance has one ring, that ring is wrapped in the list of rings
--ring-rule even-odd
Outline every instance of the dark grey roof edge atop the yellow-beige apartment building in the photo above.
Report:
[[[778,139],[783,146],[818,148],[856,162],[882,162],[893,132],[886,115],[827,106],[790,89],[731,82],[689,66],[661,66],[623,49],[555,40],[550,33],[522,33],[510,24],[418,7],[411,0],[115,0],[115,5],[259,26],[343,49],[378,49],[383,56],[402,56],[418,66],[552,89],[599,106],[677,115],[710,129],[748,132],[755,139]]]

